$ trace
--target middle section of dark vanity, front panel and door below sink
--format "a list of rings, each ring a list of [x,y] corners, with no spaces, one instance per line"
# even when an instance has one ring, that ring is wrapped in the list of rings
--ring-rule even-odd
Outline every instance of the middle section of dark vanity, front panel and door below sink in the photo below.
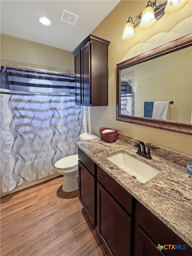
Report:
[[[97,233],[111,255],[129,256],[132,196],[99,166],[97,174]]]

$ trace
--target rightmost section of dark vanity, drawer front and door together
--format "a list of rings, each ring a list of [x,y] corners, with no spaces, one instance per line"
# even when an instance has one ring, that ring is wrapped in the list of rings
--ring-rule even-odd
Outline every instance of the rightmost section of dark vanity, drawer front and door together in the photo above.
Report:
[[[161,251],[156,247],[167,245]],[[169,247],[170,245],[170,247]],[[172,245],[178,248],[172,249]],[[186,247],[186,249],[184,249]],[[170,248],[170,249],[169,249]],[[174,246],[174,248],[176,248]],[[191,256],[192,249],[141,203],[135,208],[135,256]]]

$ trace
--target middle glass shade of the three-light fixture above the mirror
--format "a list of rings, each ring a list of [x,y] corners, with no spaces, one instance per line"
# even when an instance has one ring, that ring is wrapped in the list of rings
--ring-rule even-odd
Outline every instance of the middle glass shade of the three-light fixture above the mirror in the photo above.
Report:
[[[139,24],[139,27],[141,29],[152,28],[153,26],[155,26],[156,22],[157,20],[155,19],[153,7],[147,6],[142,13],[141,23]]]

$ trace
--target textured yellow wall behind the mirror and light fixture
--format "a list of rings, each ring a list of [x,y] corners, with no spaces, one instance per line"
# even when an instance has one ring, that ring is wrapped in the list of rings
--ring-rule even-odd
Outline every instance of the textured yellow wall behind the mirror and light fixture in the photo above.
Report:
[[[123,27],[132,16],[135,20],[147,1],[121,1],[92,32],[93,35],[111,41],[109,45],[109,105],[91,107],[91,130],[99,135],[99,127],[111,127],[119,132],[170,148],[192,154],[192,136],[116,121],[116,64],[145,53],[158,46],[192,33],[191,1],[179,12],[164,15],[150,30],[135,29],[136,37],[123,41]],[[184,103],[185,104],[185,103]]]

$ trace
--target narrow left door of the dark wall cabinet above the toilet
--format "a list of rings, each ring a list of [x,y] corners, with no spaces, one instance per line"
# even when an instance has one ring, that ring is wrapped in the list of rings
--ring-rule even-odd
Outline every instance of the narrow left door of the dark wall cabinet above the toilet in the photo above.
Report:
[[[81,51],[74,56],[75,104],[81,105]]]

